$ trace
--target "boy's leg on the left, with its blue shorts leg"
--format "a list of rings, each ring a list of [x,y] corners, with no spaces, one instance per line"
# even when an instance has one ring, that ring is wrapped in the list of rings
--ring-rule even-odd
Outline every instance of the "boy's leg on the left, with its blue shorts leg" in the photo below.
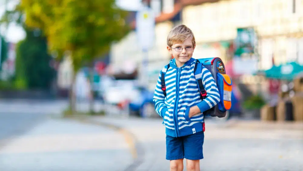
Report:
[[[166,159],[170,160],[170,171],[183,170],[184,149],[182,138],[166,135]]]

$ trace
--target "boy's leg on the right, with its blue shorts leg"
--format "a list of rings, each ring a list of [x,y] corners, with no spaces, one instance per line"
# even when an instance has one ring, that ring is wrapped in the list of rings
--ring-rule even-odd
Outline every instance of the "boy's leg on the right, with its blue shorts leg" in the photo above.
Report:
[[[203,159],[204,132],[184,137],[184,158],[188,171],[200,171],[200,159]]]

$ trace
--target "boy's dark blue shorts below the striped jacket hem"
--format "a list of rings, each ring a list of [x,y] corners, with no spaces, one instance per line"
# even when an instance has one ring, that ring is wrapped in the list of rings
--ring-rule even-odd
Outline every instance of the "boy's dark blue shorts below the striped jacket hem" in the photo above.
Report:
[[[183,137],[166,135],[166,159],[203,159],[203,142],[203,131]]]

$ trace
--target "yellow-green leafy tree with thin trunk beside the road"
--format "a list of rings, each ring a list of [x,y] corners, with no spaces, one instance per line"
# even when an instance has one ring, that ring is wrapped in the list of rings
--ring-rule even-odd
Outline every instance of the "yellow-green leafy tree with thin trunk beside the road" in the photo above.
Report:
[[[117,8],[115,0],[21,0],[20,9],[27,26],[45,33],[50,52],[56,51],[59,59],[64,52],[70,54],[74,70],[70,108],[74,112],[75,74],[125,36],[127,12]]]

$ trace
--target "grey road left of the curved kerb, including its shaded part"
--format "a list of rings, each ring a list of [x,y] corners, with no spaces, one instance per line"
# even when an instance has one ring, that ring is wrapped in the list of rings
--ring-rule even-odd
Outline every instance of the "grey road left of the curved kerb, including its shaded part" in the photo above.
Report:
[[[123,134],[50,118],[52,108],[60,108],[53,104],[14,102],[10,108],[0,104],[1,171],[120,171],[133,162]]]

